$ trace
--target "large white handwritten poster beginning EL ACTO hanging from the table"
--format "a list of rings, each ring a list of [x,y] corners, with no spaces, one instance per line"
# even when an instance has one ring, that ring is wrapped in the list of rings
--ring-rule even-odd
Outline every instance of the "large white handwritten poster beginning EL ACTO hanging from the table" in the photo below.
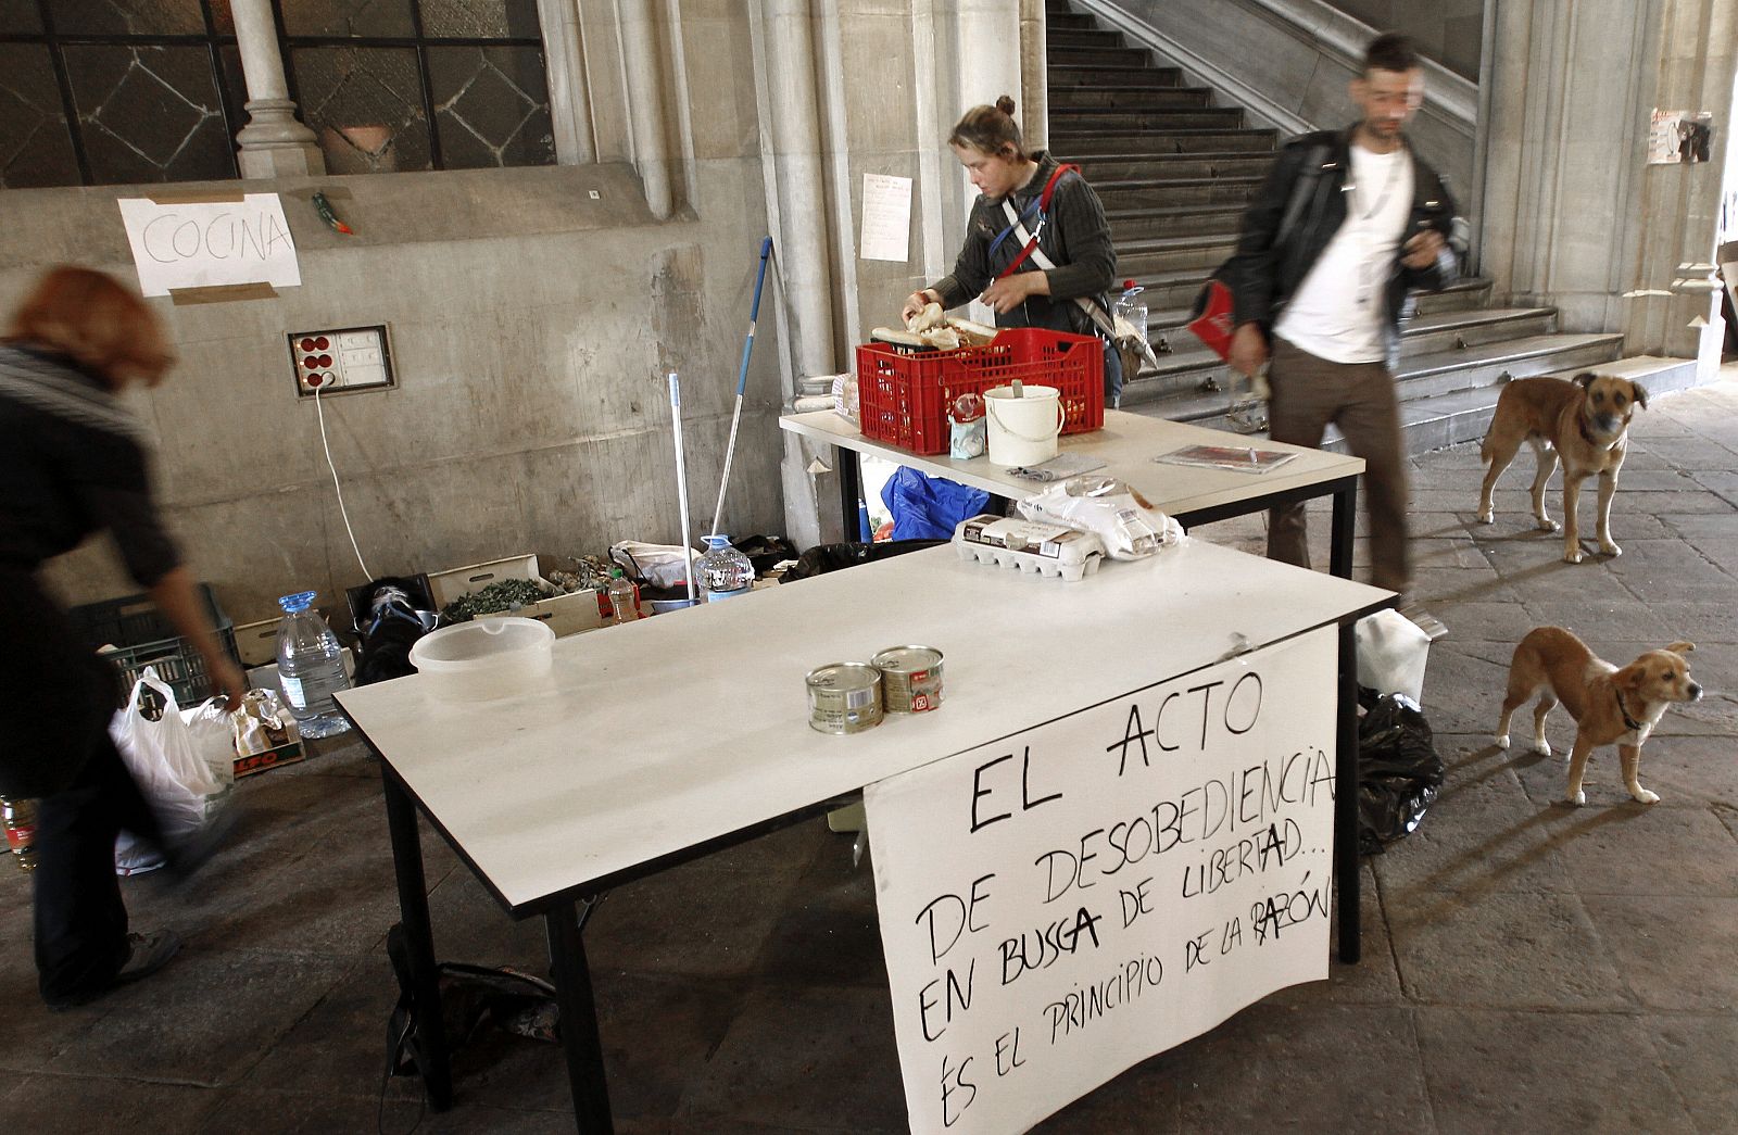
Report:
[[[1024,1132],[1328,977],[1333,627],[864,791],[911,1130]]]

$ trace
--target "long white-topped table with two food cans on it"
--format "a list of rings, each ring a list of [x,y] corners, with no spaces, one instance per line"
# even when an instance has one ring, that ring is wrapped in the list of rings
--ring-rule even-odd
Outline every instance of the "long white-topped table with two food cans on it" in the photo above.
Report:
[[[577,904],[836,806],[866,784],[1262,648],[1349,626],[1389,593],[1201,541],[1078,584],[935,548],[563,638],[513,697],[441,700],[426,676],[339,694],[381,758],[412,968],[419,1065],[436,1109],[441,1034],[417,812],[514,918],[542,914],[582,1132],[610,1105]],[[1356,753],[1349,636],[1338,756]],[[808,727],[806,671],[893,643],[945,654],[947,702],[864,733]],[[1357,956],[1356,761],[1337,767],[1342,956]]]

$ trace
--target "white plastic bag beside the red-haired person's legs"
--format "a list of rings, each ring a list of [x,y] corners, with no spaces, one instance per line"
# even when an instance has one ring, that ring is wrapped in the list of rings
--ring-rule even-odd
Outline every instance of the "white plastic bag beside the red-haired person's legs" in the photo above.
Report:
[[[162,704],[162,714],[155,721],[139,706],[139,694],[146,688],[153,690]],[[202,732],[209,735],[209,730]],[[144,669],[127,704],[115,711],[109,737],[115,739],[115,747],[120,749],[139,791],[156,812],[165,838],[179,840],[196,833],[222,803],[229,782],[221,780],[200,754],[195,730],[182,720],[174,690],[156,676],[155,666]],[[228,727],[224,744],[228,744]],[[233,768],[231,765],[231,780]]]

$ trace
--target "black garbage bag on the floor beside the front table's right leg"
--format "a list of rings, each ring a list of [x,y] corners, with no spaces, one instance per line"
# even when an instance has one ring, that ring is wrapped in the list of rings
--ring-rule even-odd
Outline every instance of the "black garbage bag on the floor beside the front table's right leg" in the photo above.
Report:
[[[1410,834],[1443,789],[1430,723],[1406,695],[1357,690],[1357,850],[1380,855]]]

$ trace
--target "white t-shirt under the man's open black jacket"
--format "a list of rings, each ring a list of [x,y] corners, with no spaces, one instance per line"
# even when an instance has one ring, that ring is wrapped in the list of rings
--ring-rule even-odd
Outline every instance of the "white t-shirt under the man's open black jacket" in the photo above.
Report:
[[[1411,217],[1411,156],[1403,146],[1371,153],[1352,146],[1345,222],[1304,276],[1274,334],[1335,363],[1387,358],[1383,295]]]

